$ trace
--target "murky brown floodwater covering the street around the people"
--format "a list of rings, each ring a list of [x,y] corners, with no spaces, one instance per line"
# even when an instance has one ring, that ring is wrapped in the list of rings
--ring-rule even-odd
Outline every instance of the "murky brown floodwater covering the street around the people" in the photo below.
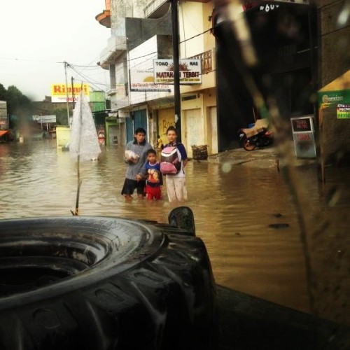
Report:
[[[167,222],[176,204],[125,203],[123,146],[80,163],[81,216]],[[349,168],[284,172],[191,160],[188,202],[216,283],[299,311],[350,324]],[[55,140],[0,144],[0,218],[70,216],[77,165]],[[165,188],[163,189],[166,193]],[[298,199],[298,200],[296,200]]]

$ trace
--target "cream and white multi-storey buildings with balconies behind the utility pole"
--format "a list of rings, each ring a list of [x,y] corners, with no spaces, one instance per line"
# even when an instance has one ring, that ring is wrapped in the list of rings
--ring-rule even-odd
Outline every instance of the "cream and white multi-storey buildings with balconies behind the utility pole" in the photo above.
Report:
[[[136,90],[132,74],[152,71],[154,59],[172,59],[172,13],[167,1],[144,1],[143,5],[130,2],[125,7],[118,0],[106,2],[110,6],[111,38],[100,65],[110,71],[111,110],[122,121],[127,140],[132,139],[137,127],[144,127],[151,144],[156,144],[158,135],[166,143],[167,127],[176,123],[174,85]],[[134,6],[142,11],[134,10]],[[200,84],[181,84],[180,137],[190,156],[193,145],[207,144],[209,153],[218,151],[212,8],[211,1],[187,1],[178,7],[179,58],[199,59],[202,65]],[[100,23],[101,17],[103,14],[96,17]]]

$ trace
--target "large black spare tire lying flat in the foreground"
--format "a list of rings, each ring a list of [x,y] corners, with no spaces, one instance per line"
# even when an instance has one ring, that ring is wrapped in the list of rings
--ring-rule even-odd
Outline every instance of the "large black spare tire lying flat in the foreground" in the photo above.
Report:
[[[193,232],[123,218],[0,221],[0,349],[215,349]]]

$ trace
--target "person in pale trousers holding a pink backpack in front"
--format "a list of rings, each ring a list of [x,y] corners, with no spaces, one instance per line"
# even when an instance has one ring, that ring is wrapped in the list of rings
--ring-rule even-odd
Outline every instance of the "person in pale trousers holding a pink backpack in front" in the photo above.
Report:
[[[166,183],[167,183],[167,195],[169,202],[174,202],[178,200],[183,202],[187,200],[187,188],[186,188],[186,178],[184,168],[188,163],[187,152],[185,146],[177,141],[177,133],[174,126],[169,126],[167,128],[167,138],[169,144],[165,145],[166,147],[173,146],[176,147],[179,151],[179,160],[181,161],[181,169],[177,174],[167,174]]]

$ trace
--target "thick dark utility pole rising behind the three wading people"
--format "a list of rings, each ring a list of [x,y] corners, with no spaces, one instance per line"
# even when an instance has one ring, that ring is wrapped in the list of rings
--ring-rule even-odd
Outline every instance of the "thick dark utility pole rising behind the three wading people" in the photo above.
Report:
[[[180,99],[180,71],[179,71],[179,15],[177,0],[172,1],[172,37],[174,63],[174,109],[175,127],[178,140],[181,142],[181,99]]]

